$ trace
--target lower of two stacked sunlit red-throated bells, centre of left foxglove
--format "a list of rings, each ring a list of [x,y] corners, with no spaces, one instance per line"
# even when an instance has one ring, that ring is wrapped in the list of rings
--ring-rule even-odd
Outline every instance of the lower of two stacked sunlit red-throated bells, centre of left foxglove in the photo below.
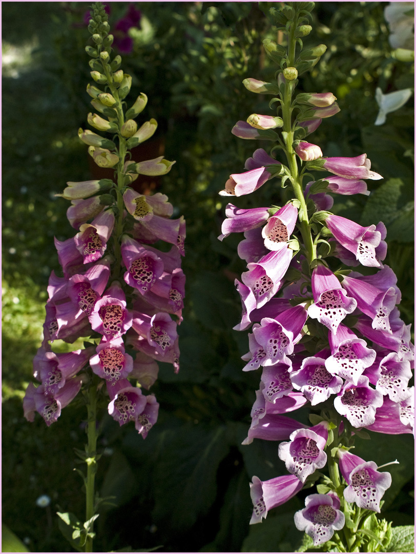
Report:
[[[100,342],[96,348],[96,354],[90,359],[92,371],[108,381],[107,386],[121,378],[125,378],[133,370],[133,358],[126,354],[123,339],[121,337],[110,341]]]

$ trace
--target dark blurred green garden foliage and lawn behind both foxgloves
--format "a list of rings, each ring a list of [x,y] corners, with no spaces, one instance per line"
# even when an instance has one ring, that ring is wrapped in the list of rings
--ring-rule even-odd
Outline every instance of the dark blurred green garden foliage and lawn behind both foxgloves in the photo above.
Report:
[[[111,2],[110,24],[123,18],[128,2]],[[413,87],[413,64],[392,57],[387,2],[323,2],[313,12],[305,45],[328,49],[299,91],[331,91],[341,111],[313,135],[324,156],[363,152],[383,181],[369,181],[370,197],[335,197],[334,212],[361,224],[386,223],[386,263],[398,275],[402,317],[413,317],[413,109],[412,99],[374,126],[383,93]],[[287,552],[298,545],[293,512],[308,491],[273,510],[249,528],[253,475],[284,474],[277,444],[261,440],[241,446],[259,374],[242,373],[247,333],[232,331],[241,315],[233,281],[245,270],[237,257],[240,237],[219,242],[227,199],[218,191],[247,157],[269,143],[231,134],[237,120],[270,114],[268,98],[249,93],[247,77],[269,80],[276,68],[262,40],[275,38],[264,12],[271,2],[145,2],[128,31],[132,52],[121,53],[122,69],[133,75],[132,103],[143,92],[159,127],[138,155],[163,154],[176,164],[167,176],[141,187],[168,194],[187,223],[184,321],[179,328],[181,370],[160,364],[152,387],[159,420],[143,441],[131,425],[119,428],[103,416],[97,487],[115,495],[97,520],[96,551],[132,547],[162,552]],[[66,181],[92,177],[86,146],[77,138],[88,128],[91,81],[84,47],[89,33],[84,2],[3,2],[3,522],[30,551],[67,552],[55,512],[82,517],[81,479],[73,471],[73,449],[85,442],[85,408],[75,401],[47,428],[40,417],[23,418],[22,398],[32,379],[40,346],[46,286],[59,269],[53,237],[75,232],[69,205],[55,193]],[[122,38],[122,37],[121,37]],[[116,48],[115,48],[116,50]],[[116,50],[117,52],[117,50]],[[311,138],[311,137],[310,137]],[[241,207],[278,203],[280,189],[264,186]],[[360,196],[360,195],[359,195]],[[77,344],[57,341],[63,351]],[[254,373],[256,373],[254,375]],[[307,412],[297,419],[307,422]],[[356,453],[391,466],[392,490],[385,517],[395,525],[413,522],[413,442],[409,435],[371,433],[358,439]],[[388,442],[388,448],[386,444]],[[51,505],[36,504],[40,495]]]

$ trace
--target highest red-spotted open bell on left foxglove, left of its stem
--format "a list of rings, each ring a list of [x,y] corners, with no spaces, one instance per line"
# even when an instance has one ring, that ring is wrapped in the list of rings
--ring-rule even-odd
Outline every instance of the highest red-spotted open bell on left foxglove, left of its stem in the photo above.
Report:
[[[75,247],[84,259],[84,264],[99,260],[107,248],[115,222],[111,210],[101,213],[92,223],[83,223],[74,237]]]

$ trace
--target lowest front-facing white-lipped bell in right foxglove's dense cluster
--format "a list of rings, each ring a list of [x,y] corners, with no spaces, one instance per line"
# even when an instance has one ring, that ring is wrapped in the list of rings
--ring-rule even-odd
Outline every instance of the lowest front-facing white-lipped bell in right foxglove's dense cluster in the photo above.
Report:
[[[334,399],[334,408],[356,428],[375,422],[376,408],[383,404],[381,392],[368,386],[368,377],[362,375],[358,383],[346,382]]]

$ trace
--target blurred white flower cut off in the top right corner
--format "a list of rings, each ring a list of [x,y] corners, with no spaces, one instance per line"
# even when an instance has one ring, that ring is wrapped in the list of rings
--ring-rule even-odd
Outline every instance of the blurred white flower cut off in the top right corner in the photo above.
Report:
[[[392,48],[414,49],[414,3],[390,2],[384,8],[384,19],[389,24],[388,42]]]

